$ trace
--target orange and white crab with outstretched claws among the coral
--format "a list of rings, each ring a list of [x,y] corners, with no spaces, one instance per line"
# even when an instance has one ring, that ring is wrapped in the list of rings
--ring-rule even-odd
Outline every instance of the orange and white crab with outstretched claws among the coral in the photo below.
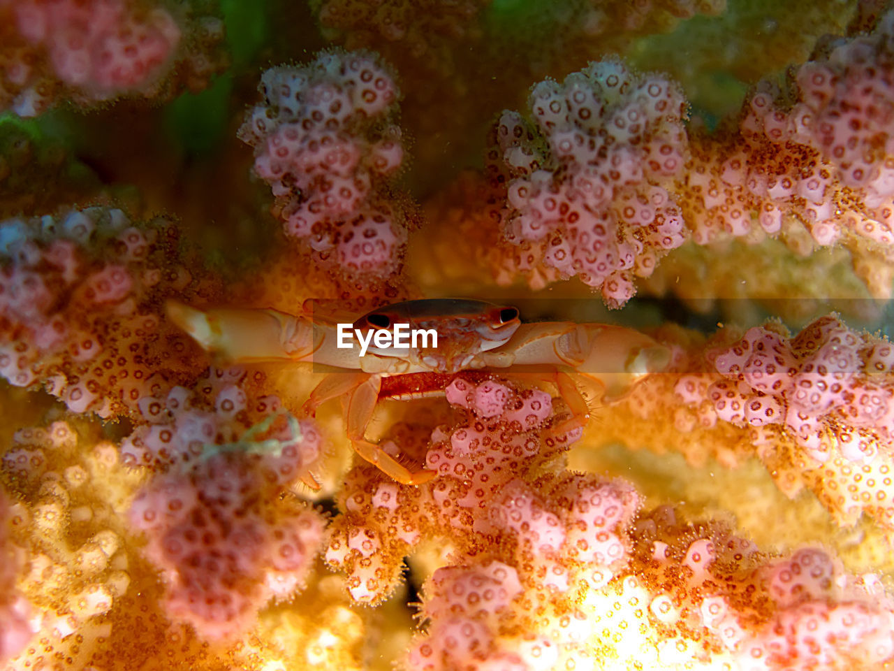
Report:
[[[638,378],[664,369],[670,352],[648,335],[626,327],[574,322],[529,322],[519,310],[466,299],[423,299],[394,303],[356,318],[308,300],[299,315],[278,310],[196,310],[178,302],[169,317],[207,352],[232,362],[309,362],[330,371],[310,394],[304,411],[313,415],[326,401],[342,398],[347,434],[356,452],[392,479],[419,485],[434,471],[410,470],[367,439],[376,404],[385,398],[443,395],[460,372],[509,373],[554,385],[570,410],[557,434],[586,425],[591,400],[622,395]],[[365,335],[364,355],[351,332]],[[377,331],[398,324],[434,329],[437,347],[375,346]],[[380,338],[379,341],[387,341]],[[378,342],[378,341],[375,341]]]

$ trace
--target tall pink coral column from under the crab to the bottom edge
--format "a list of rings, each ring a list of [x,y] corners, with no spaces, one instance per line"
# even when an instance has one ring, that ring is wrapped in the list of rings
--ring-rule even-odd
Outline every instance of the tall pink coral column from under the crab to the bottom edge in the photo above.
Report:
[[[552,435],[562,414],[544,392],[457,379],[447,395],[467,411],[451,429],[435,430],[426,465],[442,475],[432,513],[450,531],[455,554],[426,582],[422,614],[431,622],[408,667],[582,663],[587,653],[575,645],[570,603],[626,564],[617,532],[637,509],[636,492],[553,471],[579,431]],[[545,631],[531,626],[527,609],[544,616]]]

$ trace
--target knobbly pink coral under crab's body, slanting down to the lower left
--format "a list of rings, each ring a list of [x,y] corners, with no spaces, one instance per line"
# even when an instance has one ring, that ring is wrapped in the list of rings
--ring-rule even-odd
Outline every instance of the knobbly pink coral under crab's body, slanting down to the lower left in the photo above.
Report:
[[[451,383],[447,394],[454,405],[474,408],[475,401],[463,396],[476,390],[480,403],[488,408],[486,424],[476,422],[469,412],[452,432],[439,428],[432,433],[424,425],[399,426],[383,443],[386,452],[399,444],[401,454],[409,457],[425,456],[428,447],[426,468],[453,477],[436,480],[432,488],[415,488],[383,480],[381,473],[376,476],[378,471],[366,464],[349,473],[339,500],[344,514],[331,526],[325,556],[328,563],[349,573],[349,590],[355,599],[384,599],[400,579],[403,556],[424,535],[446,535],[451,547],[471,551],[491,528],[487,514],[480,511],[486,510],[491,497],[510,486],[524,459],[546,459],[565,449],[568,437],[540,436],[548,421],[555,420],[549,395],[534,389],[517,392],[496,381],[475,386],[461,378]],[[519,408],[504,412],[513,403],[519,403]],[[511,429],[513,422],[523,432],[510,446],[501,446],[497,437]],[[542,440],[546,447],[538,454]],[[476,517],[479,533],[469,537],[467,531]]]

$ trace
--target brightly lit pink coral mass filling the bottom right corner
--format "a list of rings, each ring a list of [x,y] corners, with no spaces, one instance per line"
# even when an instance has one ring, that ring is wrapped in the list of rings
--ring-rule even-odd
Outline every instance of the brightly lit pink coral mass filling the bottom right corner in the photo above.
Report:
[[[846,668],[894,651],[877,579],[843,572],[820,549],[768,556],[668,507],[641,515],[630,538],[629,573],[582,607],[596,631],[611,618],[599,642],[616,663]]]

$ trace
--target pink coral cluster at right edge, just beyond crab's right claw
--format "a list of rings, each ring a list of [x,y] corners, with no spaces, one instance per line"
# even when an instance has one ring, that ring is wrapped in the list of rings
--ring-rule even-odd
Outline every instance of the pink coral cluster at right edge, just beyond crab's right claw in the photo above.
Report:
[[[751,328],[710,360],[725,378],[707,389],[720,419],[784,424],[815,461],[829,458],[827,432],[854,463],[872,462],[878,444],[894,438],[891,345],[834,317],[814,321],[791,340],[771,327]]]

